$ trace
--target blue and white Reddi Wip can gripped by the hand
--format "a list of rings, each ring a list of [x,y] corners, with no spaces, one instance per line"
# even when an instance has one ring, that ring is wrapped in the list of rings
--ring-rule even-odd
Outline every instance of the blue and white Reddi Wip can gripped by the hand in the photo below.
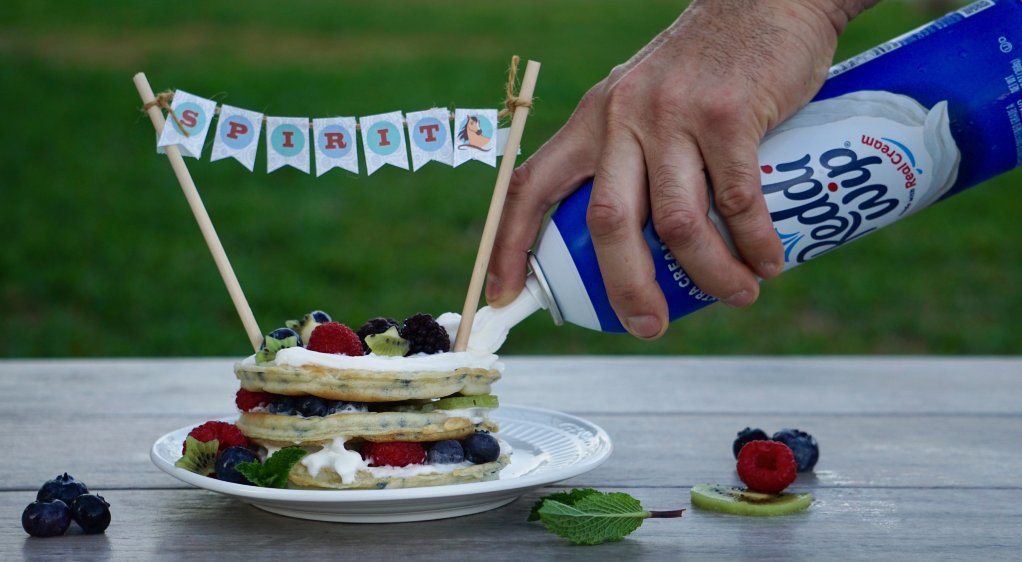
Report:
[[[812,101],[759,146],[784,269],[1019,166],[1020,88],[1022,0],[979,0],[833,66]],[[586,225],[592,188],[584,184],[547,223],[529,259],[544,294],[532,292],[555,322],[624,332]],[[735,251],[712,204],[709,216]],[[652,221],[644,232],[671,321],[716,300]]]

